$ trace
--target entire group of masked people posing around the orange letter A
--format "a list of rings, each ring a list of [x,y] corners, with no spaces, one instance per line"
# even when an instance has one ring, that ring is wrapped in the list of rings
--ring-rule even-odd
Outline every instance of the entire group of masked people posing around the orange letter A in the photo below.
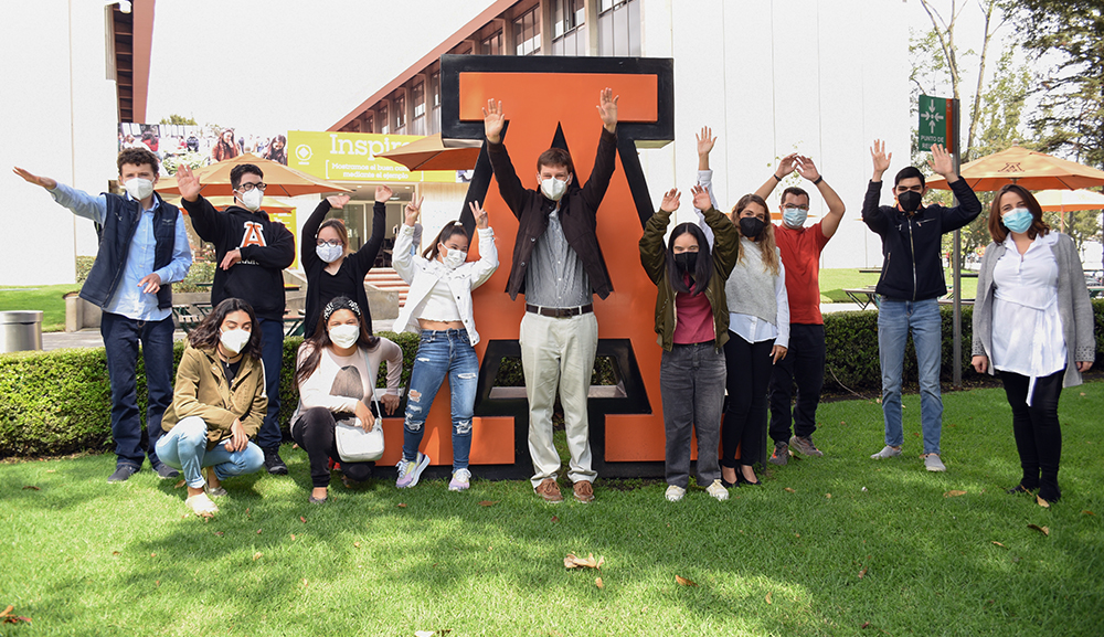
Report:
[[[549,502],[563,499],[563,467],[552,444],[558,390],[572,495],[581,502],[594,499],[587,424],[598,333],[594,296],[604,299],[613,289],[595,230],[615,169],[617,102],[608,88],[601,92],[602,130],[586,182],[575,179],[566,150],[550,148],[537,158],[535,179],[530,181],[534,188],[526,187],[533,178],[523,181],[507,152],[501,103],[488,100],[484,110],[499,193],[518,220],[507,293],[511,299],[524,295],[519,343],[529,403],[531,484]],[[732,487],[761,486],[753,469],[761,460],[786,465],[795,453],[824,455],[813,442],[826,358],[819,258],[843,217],[843,202],[811,158],[793,153],[779,160],[757,191],[741,197],[724,214],[713,195],[709,167],[715,141],[709,128],[697,136],[698,183],[691,194],[698,223],[677,225],[665,242],[681,198],[671,189],[639,241],[640,263],[657,288],[665,497],[670,501],[681,500],[690,487],[691,433],[698,440],[698,485],[718,500],[726,500]],[[894,205],[880,205],[892,155],[875,140],[871,158],[873,176],[861,219],[881,237],[884,257],[877,285],[884,446],[871,458],[903,453],[901,375],[911,333],[920,370],[921,457],[927,470],[944,471],[938,297],[946,294],[946,285],[941,242],[944,234],[976,219],[981,204],[955,172],[951,156],[933,146],[928,166],[946,178],[959,204],[924,205],[924,174],[905,167],[893,181]],[[266,184],[257,166],[234,168],[235,202],[221,212],[200,194],[202,185],[192,171],[180,168],[182,205],[200,237],[214,244],[217,269],[211,291],[214,308],[189,333],[173,386],[171,284],[183,279],[191,265],[183,219],[153,190],[156,155],[126,148],[117,168],[123,195],[92,195],[21,168],[14,172],[103,226],[81,297],[104,315],[100,331],[117,456],[108,481],[126,481],[148,456],[161,478],[182,473],[188,507],[210,516],[217,511],[211,498],[226,493],[223,480],[262,467],[273,475],[287,474],[278,453],[277,416],[283,269],[294,261],[295,237],[261,210]],[[795,171],[817,190],[828,213],[807,226],[809,193],[788,187],[778,205],[782,223],[772,223],[766,198]],[[338,433],[349,426],[378,433],[381,417],[393,415],[401,403],[402,350],[373,333],[363,285],[383,243],[384,204],[391,195],[386,187],[376,188],[372,235],[359,251],[350,250],[340,220],[326,219],[348,202],[346,195],[322,200],[302,227],[307,337],[296,357],[299,404],[290,434],[309,459],[310,502],[329,500],[335,468],[347,486],[372,477],[373,461],[342,460]],[[471,291],[496,272],[499,255],[479,202],[461,211],[460,220],[446,223],[417,254],[420,212],[421,200],[405,206],[394,251],[394,267],[411,286],[395,326],[420,335],[395,486],[415,487],[432,461],[420,447],[426,416],[447,381],[453,450],[447,488],[464,491],[473,477],[468,461],[479,371]],[[1038,201],[1020,187],[1007,185],[997,193],[988,227],[992,243],[978,279],[973,365],[979,373],[999,372],[1012,408],[1022,477],[1009,492],[1038,492],[1054,502],[1061,497],[1059,396],[1062,387],[1081,383],[1095,358],[1082,266],[1070,237],[1043,222]],[[469,261],[473,241],[478,241],[479,258]],[[145,448],[135,376],[139,343],[148,383]],[[386,389],[376,395],[381,363],[386,365]],[[761,448],[767,433],[774,443],[769,454]]]

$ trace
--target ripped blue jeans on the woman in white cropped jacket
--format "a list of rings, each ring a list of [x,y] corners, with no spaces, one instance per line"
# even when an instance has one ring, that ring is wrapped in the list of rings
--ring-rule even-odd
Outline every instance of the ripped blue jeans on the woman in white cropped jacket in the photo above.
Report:
[[[425,434],[425,420],[437,390],[448,376],[453,399],[453,470],[468,468],[471,450],[471,412],[476,404],[479,359],[471,348],[467,330],[422,330],[410,390],[406,392],[406,417],[403,423],[403,459],[417,457]]]

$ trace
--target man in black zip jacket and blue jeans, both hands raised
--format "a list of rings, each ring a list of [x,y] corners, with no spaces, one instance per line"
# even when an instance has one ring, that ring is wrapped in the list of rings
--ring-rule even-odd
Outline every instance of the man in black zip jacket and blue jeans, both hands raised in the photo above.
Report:
[[[943,235],[974,221],[981,203],[955,172],[954,161],[942,146],[932,146],[928,167],[947,180],[958,205],[923,205],[927,187],[924,173],[909,166],[893,180],[896,205],[879,205],[882,174],[893,153],[874,140],[870,149],[874,173],[862,201],[862,222],[882,238],[882,274],[878,298],[878,357],[882,369],[882,414],[885,446],[870,456],[875,460],[901,455],[904,444],[901,411],[901,372],[904,347],[912,332],[920,368],[920,422],[924,436],[924,466],[945,471],[941,459],[943,399],[940,392],[940,353],[943,347],[938,297],[947,294],[941,256]]]

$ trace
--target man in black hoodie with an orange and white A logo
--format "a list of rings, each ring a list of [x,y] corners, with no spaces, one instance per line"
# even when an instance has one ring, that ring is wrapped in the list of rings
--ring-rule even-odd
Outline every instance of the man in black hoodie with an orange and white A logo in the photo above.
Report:
[[[279,457],[283,435],[279,428],[279,378],[284,360],[284,268],[295,261],[295,235],[261,210],[264,199],[264,172],[252,163],[240,163],[230,171],[235,205],[219,212],[204,199],[202,184],[192,169],[181,164],[177,187],[181,202],[192,220],[195,234],[214,244],[215,261],[211,304],[236,297],[248,301],[257,315],[261,330],[261,359],[268,381],[268,415],[257,434],[257,445],[265,452],[269,474],[287,475]]]

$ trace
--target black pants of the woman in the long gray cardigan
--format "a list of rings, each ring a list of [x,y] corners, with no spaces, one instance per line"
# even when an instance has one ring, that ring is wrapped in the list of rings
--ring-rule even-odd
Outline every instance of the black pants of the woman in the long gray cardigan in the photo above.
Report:
[[[1030,379],[1012,372],[1000,372],[1005,394],[1012,407],[1012,434],[1020,453],[1027,489],[1040,488],[1039,495],[1054,500],[1058,492],[1058,463],[1062,458],[1062,427],[1058,424],[1058,399],[1062,395],[1065,370],[1036,379],[1034,395],[1028,406]],[[1041,479],[1040,479],[1041,473]],[[1050,496],[1050,497],[1048,497]]]

